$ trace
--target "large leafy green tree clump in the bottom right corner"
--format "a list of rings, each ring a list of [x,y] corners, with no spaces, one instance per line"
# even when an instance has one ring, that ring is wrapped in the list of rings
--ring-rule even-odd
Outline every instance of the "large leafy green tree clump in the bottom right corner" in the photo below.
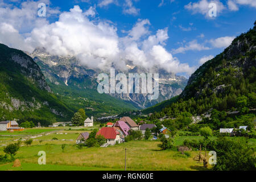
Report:
[[[220,137],[213,150],[217,152],[217,164],[213,167],[216,171],[255,170],[253,147],[245,141]]]

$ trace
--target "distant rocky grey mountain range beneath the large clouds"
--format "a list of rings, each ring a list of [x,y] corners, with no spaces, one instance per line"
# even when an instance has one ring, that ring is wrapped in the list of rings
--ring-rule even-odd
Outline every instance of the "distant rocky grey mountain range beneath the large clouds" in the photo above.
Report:
[[[48,84],[53,89],[53,92],[67,96],[65,90],[72,88],[73,90],[80,90],[80,94],[85,95],[91,100],[90,95],[97,94],[97,76],[102,71],[99,69],[90,69],[82,65],[76,57],[73,56],[52,56],[46,52],[45,48],[36,48],[29,54],[35,62],[42,69]],[[127,61],[128,73],[147,73],[141,67],[134,66],[131,61]],[[118,71],[117,72],[121,72]],[[143,109],[159,102],[170,99],[171,97],[179,95],[187,84],[187,78],[167,73],[164,70],[159,70],[159,98],[157,100],[148,100],[148,94],[111,94],[111,96],[118,100],[123,100],[132,105],[130,109]],[[59,93],[60,89],[63,91]],[[71,96],[69,94],[69,96]],[[71,96],[72,97],[72,96]],[[74,96],[76,98],[76,96]],[[98,96],[97,96],[98,97]],[[95,97],[93,97],[94,99]],[[88,107],[88,106],[86,106]]]

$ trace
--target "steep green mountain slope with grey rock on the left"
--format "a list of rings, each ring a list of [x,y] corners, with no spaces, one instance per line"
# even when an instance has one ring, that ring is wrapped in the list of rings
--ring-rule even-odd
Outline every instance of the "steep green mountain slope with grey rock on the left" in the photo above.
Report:
[[[0,119],[66,118],[72,113],[53,95],[39,66],[26,53],[0,44]]]

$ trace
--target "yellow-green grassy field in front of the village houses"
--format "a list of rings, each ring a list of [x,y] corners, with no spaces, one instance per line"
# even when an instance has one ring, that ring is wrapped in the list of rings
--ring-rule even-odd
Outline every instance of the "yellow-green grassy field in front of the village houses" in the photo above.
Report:
[[[92,127],[87,129],[72,127],[69,130],[67,127],[59,127],[48,131],[51,133],[35,138],[31,146],[20,147],[15,157],[20,160],[22,167],[12,167],[13,163],[0,164],[0,170],[123,170],[125,166],[123,148],[128,148],[127,170],[204,170],[203,163],[193,159],[199,151],[189,151],[191,156],[181,155],[177,151],[160,151],[158,141],[132,141],[106,148],[84,147],[79,150],[75,144],[79,133],[92,129]],[[185,138],[202,139],[202,137],[177,137],[175,145],[182,144]],[[1,143],[12,143],[14,139],[15,137],[3,140]],[[255,144],[256,141],[250,140],[250,142]],[[63,143],[67,144],[64,151],[61,149]],[[4,154],[2,150],[3,146],[0,147],[0,155]],[[38,164],[39,151],[46,152],[46,165]]]

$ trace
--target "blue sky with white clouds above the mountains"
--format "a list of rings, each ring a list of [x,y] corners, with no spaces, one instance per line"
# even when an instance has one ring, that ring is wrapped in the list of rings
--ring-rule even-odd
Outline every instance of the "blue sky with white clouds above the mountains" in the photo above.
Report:
[[[189,77],[255,20],[255,0],[0,0],[0,43],[103,71],[129,60]]]

